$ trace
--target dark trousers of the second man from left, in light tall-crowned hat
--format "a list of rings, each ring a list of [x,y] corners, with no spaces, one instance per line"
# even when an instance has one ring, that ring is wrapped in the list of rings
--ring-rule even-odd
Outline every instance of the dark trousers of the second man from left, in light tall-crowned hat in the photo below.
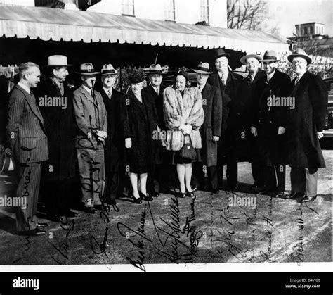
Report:
[[[71,185],[72,179],[43,182],[41,189],[44,194],[46,213],[65,215],[70,211]]]

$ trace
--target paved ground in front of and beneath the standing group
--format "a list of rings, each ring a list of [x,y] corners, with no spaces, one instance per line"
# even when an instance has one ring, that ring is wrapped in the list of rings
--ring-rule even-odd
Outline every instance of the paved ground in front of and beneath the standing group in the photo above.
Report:
[[[253,180],[249,163],[240,163],[242,192],[123,199],[119,212],[48,222],[45,237],[16,235],[15,215],[0,210],[0,265],[332,261],[333,154],[324,155],[318,199],[308,205],[245,193]],[[5,194],[11,183],[0,181]]]

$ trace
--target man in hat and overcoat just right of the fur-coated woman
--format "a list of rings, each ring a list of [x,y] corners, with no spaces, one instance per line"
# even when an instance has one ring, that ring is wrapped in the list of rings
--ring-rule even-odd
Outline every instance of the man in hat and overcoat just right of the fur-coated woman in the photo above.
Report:
[[[221,138],[222,129],[222,96],[221,91],[207,83],[209,74],[209,63],[200,62],[196,69],[197,87],[202,95],[204,108],[204,124],[200,127],[202,137],[202,164],[204,174],[207,172],[209,179],[209,190],[212,194],[218,193],[218,141]]]

